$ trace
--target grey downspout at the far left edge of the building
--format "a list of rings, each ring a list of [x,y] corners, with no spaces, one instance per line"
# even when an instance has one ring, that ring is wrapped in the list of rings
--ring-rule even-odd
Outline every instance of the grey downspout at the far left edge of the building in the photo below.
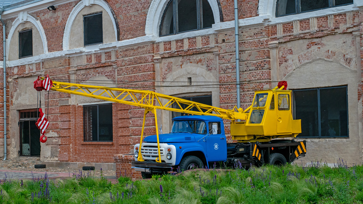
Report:
[[[5,32],[5,22],[1,18],[1,14],[3,13],[4,9],[0,8],[0,21],[3,24],[3,72],[4,72],[4,161],[6,160],[6,152],[7,152],[7,143],[6,143],[6,32]]]

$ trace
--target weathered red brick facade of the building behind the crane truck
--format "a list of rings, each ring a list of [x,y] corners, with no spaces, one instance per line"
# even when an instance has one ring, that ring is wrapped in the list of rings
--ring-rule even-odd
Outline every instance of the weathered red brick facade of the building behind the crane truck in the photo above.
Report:
[[[216,2],[221,6],[221,17],[217,18],[223,19],[223,22],[233,21],[233,1],[219,0]],[[242,21],[259,16],[258,2],[258,0],[238,1],[239,17]],[[56,11],[41,9],[28,13],[39,20],[44,29],[48,43],[48,53],[63,50],[65,26],[72,9],[77,3],[79,1],[57,5]],[[107,0],[105,3],[109,5],[118,24],[119,36],[117,36],[117,39],[119,41],[145,36],[146,17],[152,0]],[[9,30],[11,30],[16,17],[8,19],[6,19],[6,15],[3,17],[7,27],[6,34],[9,35]],[[333,17],[333,20],[331,20],[331,17]],[[358,73],[358,90],[356,89],[354,94],[358,96],[358,110],[361,114],[358,117],[359,124],[356,124],[356,126],[361,127],[363,125],[362,8],[331,14],[330,17],[325,15],[312,19],[307,18],[297,20],[297,22],[286,21],[283,23],[265,23],[261,21],[252,26],[240,27],[241,81],[252,82],[241,85],[241,106],[243,109],[249,106],[254,90],[276,86],[275,81],[290,76],[289,74],[294,73],[296,67],[314,61],[318,55],[319,58],[326,61],[340,61],[339,63],[344,67]],[[347,22],[347,19],[349,22]],[[315,28],[311,26],[311,22],[314,21],[316,21]],[[2,35],[2,31],[0,31],[0,37]],[[342,43],[342,53],[337,53],[336,49],[331,49],[335,46],[334,42],[325,40],[330,39],[329,37],[335,39],[332,36],[337,38],[339,36],[342,38],[349,36]],[[9,37],[7,39],[10,40]],[[355,40],[358,40],[358,43]],[[277,42],[277,47],[271,45],[274,42]],[[299,52],[294,51],[294,48],[291,47],[292,44],[290,45],[290,43],[295,42],[299,42],[301,49]],[[18,119],[12,118],[11,111],[20,110],[19,107],[21,109],[36,107],[36,103],[34,103],[36,95],[32,95],[34,97],[33,102],[28,105],[26,105],[26,102],[21,102],[22,106],[14,105],[15,102],[19,104],[19,100],[23,99],[16,93],[24,91],[20,90],[19,83],[23,83],[20,80],[26,77],[49,74],[54,80],[69,79],[74,82],[74,79],[76,79],[76,83],[85,83],[90,78],[104,76],[117,87],[160,91],[158,86],[167,83],[173,73],[193,65],[204,69],[206,72],[213,73],[216,79],[213,83],[220,83],[216,104],[222,108],[232,109],[236,105],[236,86],[225,83],[236,81],[234,46],[234,28],[231,27],[217,30],[213,34],[176,39],[175,42],[173,40],[143,42],[128,46],[115,46],[108,50],[81,51],[73,55],[65,54],[58,57],[49,56],[49,58],[31,63],[21,62],[17,64],[13,62],[13,66],[9,64],[10,66],[7,67],[7,105],[9,110],[7,113],[8,118],[10,118],[7,126],[9,132],[8,157],[16,156],[19,149],[19,132],[16,132],[19,130],[17,130],[17,125],[14,123]],[[349,49],[354,51],[346,52]],[[272,52],[277,53],[275,58],[273,58]],[[352,55],[352,53],[357,52],[360,52],[360,56]],[[0,41],[0,54],[2,53],[3,42]],[[342,58],[336,59],[337,56],[342,56]],[[186,77],[180,76],[179,81],[186,81]],[[2,81],[3,77],[1,75],[0,82]],[[288,81],[288,83],[294,82]],[[2,87],[2,83],[0,86]],[[32,84],[26,86],[32,86]],[[214,90],[216,89],[211,88],[210,91]],[[34,93],[36,94],[35,91]],[[188,91],[185,91],[185,93],[188,93]],[[168,91],[165,91],[165,94],[169,94]],[[0,95],[3,95],[2,89],[0,89]],[[47,99],[47,97],[48,93],[45,94],[45,98],[42,98],[42,100]],[[73,103],[72,100],[70,94],[56,91],[49,92],[49,104],[45,100],[45,106],[49,107],[48,120],[50,121],[47,132],[52,132],[48,138],[49,142],[45,143],[45,145],[59,149],[57,155],[50,155],[45,159],[51,160],[53,158],[61,162],[94,163],[114,163],[116,160],[116,163],[119,162],[130,166],[130,159],[133,159],[132,155],[123,158],[116,156],[115,159],[114,155],[132,153],[132,146],[139,142],[143,109],[113,103],[113,142],[83,142],[83,106],[82,103],[79,105]],[[349,102],[356,103],[354,101]],[[1,103],[0,118],[3,117],[2,110],[3,104]],[[0,120],[0,132],[3,132],[2,122]],[[225,132],[229,134],[229,121],[225,120],[225,123],[227,124]],[[164,125],[168,126],[169,124]],[[155,134],[154,115],[151,113],[147,114],[144,130],[144,135],[150,134]],[[361,130],[360,132],[358,130],[356,134],[362,134]],[[0,146],[3,146],[2,142],[3,134],[0,133]],[[362,141],[358,143],[360,144]],[[361,147],[356,149],[361,149]],[[2,156],[1,152],[0,156]],[[357,159],[361,160],[362,156],[358,155],[352,161],[362,162]],[[120,172],[125,174],[125,171],[127,175],[132,173],[126,166],[117,167],[117,175]]]

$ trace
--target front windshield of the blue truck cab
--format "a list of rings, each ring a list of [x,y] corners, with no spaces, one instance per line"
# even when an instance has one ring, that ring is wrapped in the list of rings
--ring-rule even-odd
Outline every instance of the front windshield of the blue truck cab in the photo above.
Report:
[[[174,121],[171,128],[172,132],[207,134],[207,126],[203,121]]]

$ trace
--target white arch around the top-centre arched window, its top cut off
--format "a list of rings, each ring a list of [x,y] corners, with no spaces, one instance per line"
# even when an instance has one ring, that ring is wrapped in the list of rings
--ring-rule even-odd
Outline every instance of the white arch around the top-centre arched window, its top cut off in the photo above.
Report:
[[[146,16],[145,34],[159,37],[159,24],[166,5],[170,0],[152,0]],[[211,5],[214,23],[220,23],[220,13],[217,0],[208,0]]]

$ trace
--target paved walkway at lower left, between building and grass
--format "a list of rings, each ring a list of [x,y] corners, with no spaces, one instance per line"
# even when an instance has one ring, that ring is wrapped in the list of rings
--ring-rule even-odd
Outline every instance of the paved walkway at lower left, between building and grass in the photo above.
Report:
[[[32,172],[32,171],[15,171],[15,170],[0,170],[0,180],[6,179],[38,179],[44,178],[45,173],[50,179],[70,179],[73,178],[70,173],[65,172]],[[117,183],[116,176],[105,176],[111,183]],[[99,178],[99,177],[96,177]]]

